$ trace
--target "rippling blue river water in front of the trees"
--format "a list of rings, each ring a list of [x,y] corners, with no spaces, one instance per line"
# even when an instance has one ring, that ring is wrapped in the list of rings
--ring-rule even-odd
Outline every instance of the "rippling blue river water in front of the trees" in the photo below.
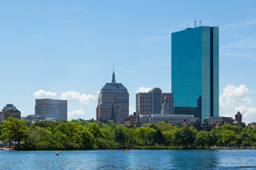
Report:
[[[256,169],[256,149],[0,151],[0,169]]]

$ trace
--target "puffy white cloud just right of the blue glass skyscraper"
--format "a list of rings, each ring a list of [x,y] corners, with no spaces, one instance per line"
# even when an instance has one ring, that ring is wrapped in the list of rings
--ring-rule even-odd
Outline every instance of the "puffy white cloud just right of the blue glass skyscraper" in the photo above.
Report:
[[[223,89],[220,96],[220,108],[236,105],[249,105],[252,100],[247,96],[249,93],[247,87],[243,84],[240,86],[228,85]]]

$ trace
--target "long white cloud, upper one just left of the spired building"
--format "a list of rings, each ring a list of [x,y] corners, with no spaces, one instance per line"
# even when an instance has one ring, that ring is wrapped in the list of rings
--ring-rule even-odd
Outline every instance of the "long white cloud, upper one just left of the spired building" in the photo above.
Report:
[[[82,104],[87,104],[89,101],[94,101],[96,98],[92,94],[80,94],[78,91],[66,91],[61,93],[60,99],[70,101],[80,101]]]

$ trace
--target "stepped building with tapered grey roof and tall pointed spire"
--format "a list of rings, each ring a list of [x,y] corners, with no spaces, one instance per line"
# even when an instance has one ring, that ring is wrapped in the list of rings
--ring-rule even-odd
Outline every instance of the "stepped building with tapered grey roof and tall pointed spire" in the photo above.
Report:
[[[120,83],[116,83],[114,72],[112,82],[105,84],[98,96],[96,119],[107,121],[113,119],[114,123],[124,124],[124,118],[129,115],[129,93]]]

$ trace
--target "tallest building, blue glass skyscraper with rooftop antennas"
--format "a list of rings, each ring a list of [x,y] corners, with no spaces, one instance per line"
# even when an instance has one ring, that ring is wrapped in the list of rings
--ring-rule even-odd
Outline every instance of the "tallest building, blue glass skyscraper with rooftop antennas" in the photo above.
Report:
[[[219,115],[219,28],[200,26],[171,34],[171,91],[175,114],[203,120]]]

